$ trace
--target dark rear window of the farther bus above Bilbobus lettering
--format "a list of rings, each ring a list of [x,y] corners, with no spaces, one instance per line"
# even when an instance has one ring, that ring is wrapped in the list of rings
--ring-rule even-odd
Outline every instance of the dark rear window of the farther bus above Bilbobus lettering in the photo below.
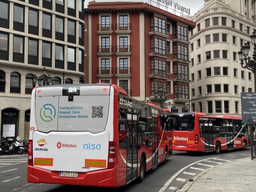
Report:
[[[172,114],[172,130],[177,131],[193,131],[195,125],[194,114]]]

